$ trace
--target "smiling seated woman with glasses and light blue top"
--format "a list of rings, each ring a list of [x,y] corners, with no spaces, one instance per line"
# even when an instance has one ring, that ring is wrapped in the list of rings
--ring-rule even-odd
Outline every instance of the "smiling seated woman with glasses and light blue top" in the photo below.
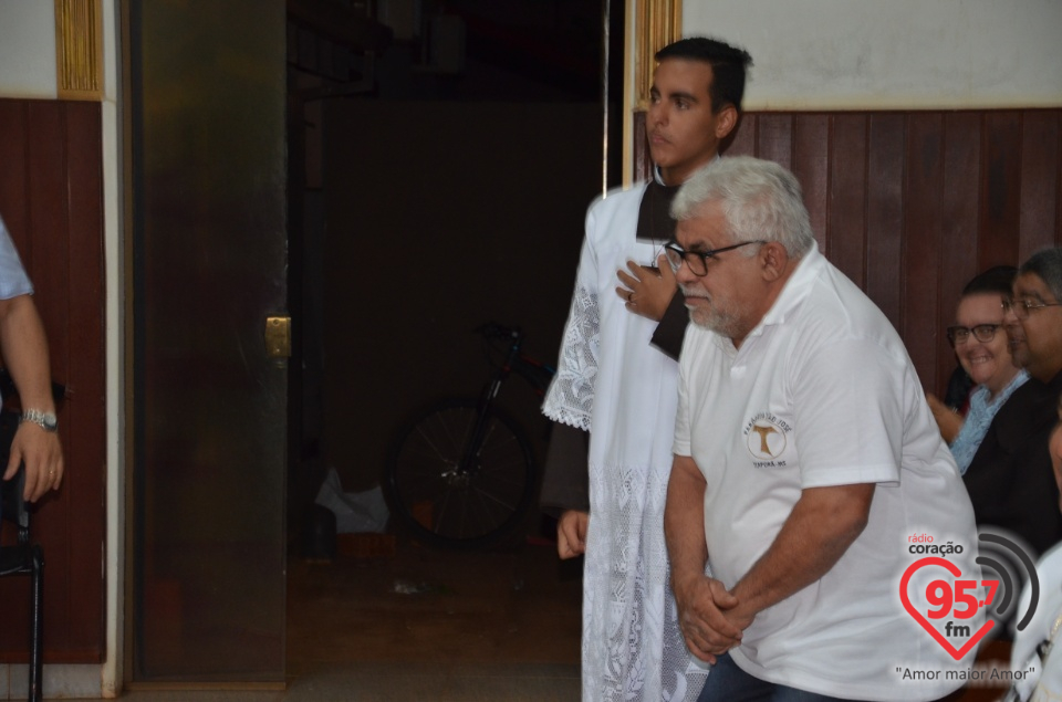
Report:
[[[992,419],[1029,374],[1013,364],[1003,328],[1002,301],[1009,298],[1017,269],[996,266],[977,275],[962,289],[955,312],[956,324],[948,327],[948,342],[955,349],[959,365],[974,380],[969,411],[950,441],[951,453],[966,474],[988,432]],[[940,401],[929,396],[929,406],[940,425],[941,434],[948,439],[954,428],[941,410]]]

